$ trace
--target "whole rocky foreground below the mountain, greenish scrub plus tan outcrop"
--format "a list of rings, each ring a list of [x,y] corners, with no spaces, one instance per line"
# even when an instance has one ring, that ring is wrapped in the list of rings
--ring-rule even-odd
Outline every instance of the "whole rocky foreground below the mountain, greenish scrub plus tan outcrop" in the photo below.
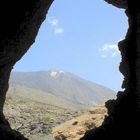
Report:
[[[74,111],[8,96],[4,113],[11,127],[30,140],[79,140],[102,124],[107,110],[98,105]]]

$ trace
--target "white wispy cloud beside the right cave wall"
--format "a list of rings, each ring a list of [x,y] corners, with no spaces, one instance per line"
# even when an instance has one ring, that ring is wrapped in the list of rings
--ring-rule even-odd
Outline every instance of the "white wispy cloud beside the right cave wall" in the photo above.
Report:
[[[114,58],[120,54],[117,44],[105,44],[98,51],[102,58]]]

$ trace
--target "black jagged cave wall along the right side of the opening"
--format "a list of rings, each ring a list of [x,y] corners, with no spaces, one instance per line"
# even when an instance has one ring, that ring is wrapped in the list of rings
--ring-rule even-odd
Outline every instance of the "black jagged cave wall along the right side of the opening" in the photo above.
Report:
[[[129,19],[127,35],[118,43],[122,55],[119,69],[124,75],[122,87],[125,90],[118,92],[116,100],[106,102],[109,116],[105,118],[102,126],[88,131],[80,140],[140,137],[140,5],[132,0],[127,0],[125,6],[114,2],[111,4],[126,8],[125,13]]]

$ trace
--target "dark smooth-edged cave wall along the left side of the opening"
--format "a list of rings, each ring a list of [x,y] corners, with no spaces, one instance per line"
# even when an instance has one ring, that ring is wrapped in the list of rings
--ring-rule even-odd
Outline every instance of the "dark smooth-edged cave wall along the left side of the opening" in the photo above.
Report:
[[[10,72],[35,41],[53,0],[2,0],[0,3],[0,140],[26,140],[3,115]]]

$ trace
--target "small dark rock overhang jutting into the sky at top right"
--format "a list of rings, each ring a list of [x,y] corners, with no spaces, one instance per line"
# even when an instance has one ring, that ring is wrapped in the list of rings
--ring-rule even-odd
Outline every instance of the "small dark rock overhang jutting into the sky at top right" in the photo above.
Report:
[[[127,0],[105,0],[105,1],[118,7],[118,8],[126,9],[128,6]]]

